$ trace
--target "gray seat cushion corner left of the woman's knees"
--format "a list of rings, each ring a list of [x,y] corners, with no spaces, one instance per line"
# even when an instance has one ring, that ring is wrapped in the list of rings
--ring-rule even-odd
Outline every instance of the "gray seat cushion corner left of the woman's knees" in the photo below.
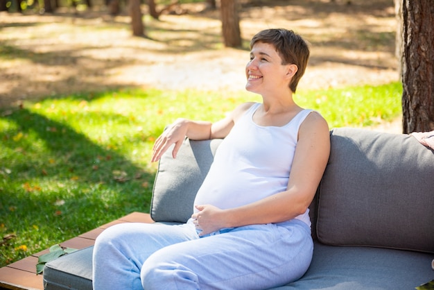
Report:
[[[45,265],[45,290],[92,290],[92,253],[94,247],[64,255]]]

